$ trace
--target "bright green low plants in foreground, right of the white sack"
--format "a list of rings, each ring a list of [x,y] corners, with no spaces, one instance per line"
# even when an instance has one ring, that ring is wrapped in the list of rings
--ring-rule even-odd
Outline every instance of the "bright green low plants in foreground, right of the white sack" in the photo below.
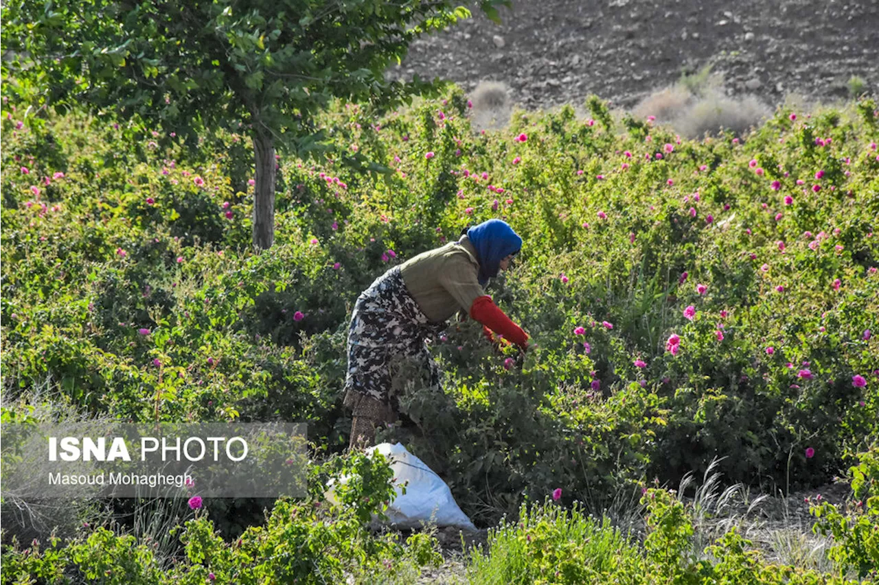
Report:
[[[647,534],[643,547],[607,518],[599,522],[574,506],[523,506],[519,523],[489,532],[489,551],[470,555],[474,583],[633,583],[636,585],[842,585],[857,581],[763,560],[735,527],[693,551],[693,510],[672,492],[644,490]],[[702,558],[697,558],[702,557]],[[861,581],[869,583],[872,581]]]

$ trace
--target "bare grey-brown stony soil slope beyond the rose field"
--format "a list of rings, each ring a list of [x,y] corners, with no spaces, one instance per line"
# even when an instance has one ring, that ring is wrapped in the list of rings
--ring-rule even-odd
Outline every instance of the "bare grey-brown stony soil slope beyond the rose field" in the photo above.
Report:
[[[503,82],[528,110],[590,94],[628,109],[709,64],[728,94],[770,106],[848,97],[852,76],[879,89],[874,0],[512,0],[501,25],[461,4],[473,18],[415,40],[390,77]]]

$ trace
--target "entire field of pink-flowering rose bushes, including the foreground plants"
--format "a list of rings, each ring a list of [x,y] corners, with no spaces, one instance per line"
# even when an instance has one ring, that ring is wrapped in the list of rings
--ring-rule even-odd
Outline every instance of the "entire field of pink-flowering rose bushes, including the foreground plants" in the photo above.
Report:
[[[261,253],[244,134],[187,142],[146,121],[0,107],[0,420],[54,401],[135,422],[305,422],[321,461],[309,498],[258,510],[260,525],[205,498],[177,545],[92,523],[67,545],[4,545],[0,575],[412,582],[435,542],[371,535],[391,478],[342,455],[348,319],[390,266],[493,217],[525,243],[488,293],[531,349],[516,364],[476,322],[449,321],[431,344],[442,392],[411,376],[401,397],[424,429],[410,451],[497,527],[469,560],[473,582],[875,574],[876,105],[782,107],[752,134],[703,141],[587,107],[475,133],[457,89],[387,114],[337,105],[320,119],[336,154],[278,158]],[[646,486],[701,477],[716,457],[724,481],[764,492],[849,476],[848,509],[813,509],[834,573],[766,564],[735,531],[692,551],[685,503]],[[322,488],[342,470],[363,480],[330,506]],[[623,493],[647,510],[639,546],[588,517]]]

